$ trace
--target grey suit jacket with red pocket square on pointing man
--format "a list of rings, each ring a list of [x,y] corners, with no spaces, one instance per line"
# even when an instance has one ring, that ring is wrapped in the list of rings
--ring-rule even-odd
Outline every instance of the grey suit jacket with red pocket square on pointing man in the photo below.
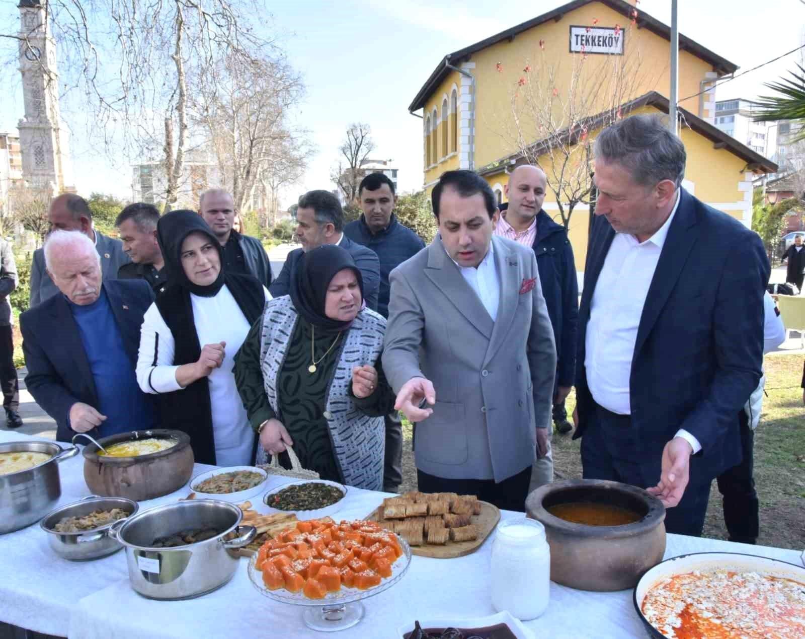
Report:
[[[394,392],[411,377],[433,383],[436,405],[416,425],[414,455],[437,477],[516,475],[534,463],[535,428],[551,424],[556,349],[536,257],[509,239],[492,242],[496,322],[438,236],[390,275],[383,371]]]

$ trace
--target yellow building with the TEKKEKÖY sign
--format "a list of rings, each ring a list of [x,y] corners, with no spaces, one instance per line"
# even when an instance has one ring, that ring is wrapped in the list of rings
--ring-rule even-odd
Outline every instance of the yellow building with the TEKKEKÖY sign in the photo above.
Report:
[[[469,168],[506,201],[510,169],[539,164],[548,176],[548,214],[560,221],[576,200],[568,227],[581,270],[591,143],[614,119],[667,114],[670,35],[623,0],[576,0],[444,56],[409,106],[423,118],[424,188],[445,171]],[[749,226],[753,174],[777,166],[712,125],[714,85],[736,70],[679,35],[684,186]],[[568,180],[568,172],[576,177]]]

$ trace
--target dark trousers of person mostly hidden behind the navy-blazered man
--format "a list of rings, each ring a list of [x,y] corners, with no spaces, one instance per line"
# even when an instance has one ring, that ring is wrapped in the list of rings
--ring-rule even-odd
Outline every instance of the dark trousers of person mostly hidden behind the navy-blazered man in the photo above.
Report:
[[[719,475],[718,490],[724,496],[724,523],[729,541],[754,544],[758,542],[760,530],[760,504],[752,478],[754,431],[749,428],[745,411],[741,411],[738,418],[743,460]]]

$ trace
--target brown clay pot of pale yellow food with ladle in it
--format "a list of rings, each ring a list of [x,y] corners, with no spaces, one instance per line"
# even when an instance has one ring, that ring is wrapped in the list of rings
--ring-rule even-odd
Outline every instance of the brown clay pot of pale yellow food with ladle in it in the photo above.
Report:
[[[188,483],[195,458],[190,437],[180,430],[134,430],[102,438],[98,443],[108,448],[113,444],[146,438],[170,438],[179,443],[156,453],[135,457],[99,455],[95,444],[85,446],[84,480],[93,495],[151,500]]]

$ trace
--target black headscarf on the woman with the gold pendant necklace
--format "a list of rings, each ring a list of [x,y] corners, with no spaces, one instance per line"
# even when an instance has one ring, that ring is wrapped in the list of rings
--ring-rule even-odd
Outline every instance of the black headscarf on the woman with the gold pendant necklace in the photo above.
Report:
[[[352,322],[341,322],[324,314],[327,289],[336,273],[351,269],[357,278],[363,299],[363,278],[353,256],[335,244],[324,244],[308,251],[299,259],[291,274],[291,301],[296,312],[313,326],[328,330],[345,330]]]

